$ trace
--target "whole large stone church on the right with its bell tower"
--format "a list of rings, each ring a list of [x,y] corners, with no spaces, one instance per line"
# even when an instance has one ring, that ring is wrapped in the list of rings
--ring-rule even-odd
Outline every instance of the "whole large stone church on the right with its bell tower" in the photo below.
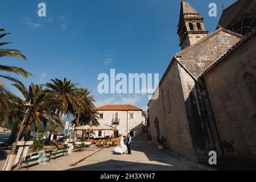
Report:
[[[216,27],[208,34],[204,18],[181,1],[181,51],[148,103],[148,133],[193,162],[208,161],[209,151],[256,160],[256,1],[236,1]]]

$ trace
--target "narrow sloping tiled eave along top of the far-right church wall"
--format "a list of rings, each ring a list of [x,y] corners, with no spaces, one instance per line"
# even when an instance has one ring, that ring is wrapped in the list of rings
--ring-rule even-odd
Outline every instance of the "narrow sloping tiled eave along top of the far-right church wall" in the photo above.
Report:
[[[201,73],[200,76],[205,75],[208,71],[210,71],[213,67],[215,67],[220,61],[224,60],[226,56],[228,56],[230,53],[232,53],[234,50],[236,50],[238,47],[240,47],[243,43],[245,43],[251,36],[254,36],[256,34],[256,28],[251,30],[247,35],[245,35],[240,41],[238,41],[234,46],[232,46],[228,51],[226,51],[220,58],[218,58],[216,61],[214,61],[207,69],[204,70],[204,72]]]

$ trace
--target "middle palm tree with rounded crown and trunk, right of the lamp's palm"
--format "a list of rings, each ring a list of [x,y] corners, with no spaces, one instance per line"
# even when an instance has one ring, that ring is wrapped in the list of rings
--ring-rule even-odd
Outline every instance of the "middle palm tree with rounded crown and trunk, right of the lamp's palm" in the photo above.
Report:
[[[63,114],[73,115],[74,113],[80,114],[85,107],[84,92],[82,88],[77,88],[80,84],[72,83],[71,80],[64,78],[63,81],[55,78],[52,82],[47,83],[45,86],[49,88],[48,94],[57,100],[62,102],[61,107],[57,107],[56,112],[61,121]],[[57,134],[59,132],[59,126],[56,125],[53,135],[52,143],[56,144]]]

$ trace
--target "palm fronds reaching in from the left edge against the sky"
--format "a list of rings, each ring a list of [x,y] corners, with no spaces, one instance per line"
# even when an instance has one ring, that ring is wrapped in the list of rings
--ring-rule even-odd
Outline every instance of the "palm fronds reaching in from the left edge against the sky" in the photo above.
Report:
[[[0,32],[5,31],[4,29],[0,29]],[[5,37],[6,35],[9,35],[10,33],[0,34],[0,39]],[[1,46],[6,46],[7,44],[11,44],[10,42],[0,42]],[[3,48],[0,49],[0,58],[2,57],[19,57],[23,60],[26,60],[26,56],[24,56],[20,51],[17,49],[7,49]],[[3,74],[3,72],[13,72],[17,75],[21,75],[23,77],[32,76],[31,73],[27,72],[23,68],[19,67],[11,67],[7,65],[0,64],[0,78],[3,78],[4,80],[9,80],[15,83],[22,84],[19,80],[16,78]],[[8,121],[8,117],[11,111],[11,106],[13,105],[11,100],[13,100],[13,94],[7,90],[3,84],[3,82],[0,80],[0,125]]]

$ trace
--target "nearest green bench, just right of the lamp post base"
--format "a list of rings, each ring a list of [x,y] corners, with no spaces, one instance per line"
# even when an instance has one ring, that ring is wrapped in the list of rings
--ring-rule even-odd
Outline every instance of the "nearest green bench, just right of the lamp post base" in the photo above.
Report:
[[[46,160],[48,158],[48,162],[51,160],[51,155],[52,155],[53,150],[48,150],[44,152],[37,152],[37,153],[32,153],[31,155],[28,155],[26,157],[23,157],[20,162],[19,169],[22,167],[22,164],[27,164],[27,170],[28,170],[28,163],[34,162],[36,160]],[[44,155],[45,154],[45,155]]]

